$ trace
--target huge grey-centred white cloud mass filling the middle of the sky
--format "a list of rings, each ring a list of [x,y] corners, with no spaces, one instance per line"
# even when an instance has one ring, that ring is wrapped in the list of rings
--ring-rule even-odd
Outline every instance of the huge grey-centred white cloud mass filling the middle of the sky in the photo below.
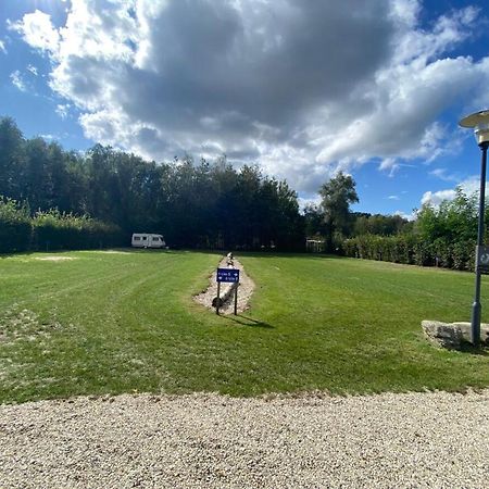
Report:
[[[489,95],[489,59],[450,57],[474,8],[419,25],[416,0],[73,0],[12,28],[52,61],[86,136],[158,161],[260,163],[316,191],[339,170],[439,158],[439,117]],[[476,103],[477,101],[475,101]],[[464,108],[472,109],[472,108]]]

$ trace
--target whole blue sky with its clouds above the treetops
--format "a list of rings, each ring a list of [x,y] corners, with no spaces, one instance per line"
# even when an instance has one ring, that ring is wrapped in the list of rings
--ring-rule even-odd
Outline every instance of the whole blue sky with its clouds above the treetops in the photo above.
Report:
[[[485,9],[486,7],[486,9]],[[225,154],[301,204],[339,171],[354,211],[478,188],[487,0],[0,0],[0,116],[67,150]]]

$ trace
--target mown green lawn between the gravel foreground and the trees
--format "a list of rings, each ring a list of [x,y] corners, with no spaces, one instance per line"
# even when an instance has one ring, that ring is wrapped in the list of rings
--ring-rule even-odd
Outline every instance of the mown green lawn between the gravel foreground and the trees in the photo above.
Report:
[[[473,274],[247,254],[238,259],[256,283],[251,309],[223,317],[191,300],[216,254],[80,251],[40,260],[52,255],[0,259],[0,402],[489,385],[487,352],[439,350],[421,331],[425,318],[468,319]],[[484,277],[482,296],[487,285]]]

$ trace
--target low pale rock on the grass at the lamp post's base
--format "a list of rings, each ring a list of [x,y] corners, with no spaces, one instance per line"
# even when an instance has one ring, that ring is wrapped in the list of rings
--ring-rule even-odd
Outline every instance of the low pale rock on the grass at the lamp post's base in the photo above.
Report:
[[[462,343],[471,342],[471,323],[422,321],[422,328],[429,341],[449,350],[460,350]],[[489,324],[480,325],[480,343],[489,346]]]

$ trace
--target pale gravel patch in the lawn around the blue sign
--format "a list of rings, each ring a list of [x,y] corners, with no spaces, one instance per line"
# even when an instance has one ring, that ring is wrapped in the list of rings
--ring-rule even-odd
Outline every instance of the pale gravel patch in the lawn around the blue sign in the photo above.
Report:
[[[254,281],[247,275],[241,263],[234,260],[234,267],[239,269],[239,288],[238,288],[238,313],[242,313],[249,308],[249,301],[254,290]],[[220,268],[227,268],[227,259],[224,258],[221,260],[218,264]],[[212,306],[212,300],[217,297],[217,283],[216,283],[216,273],[215,271],[211,277],[209,278],[209,287],[208,289],[193,297],[193,300],[199,304],[204,305],[208,309],[214,311]],[[221,297],[223,297],[227,289],[231,286],[231,284],[221,284]],[[222,308],[220,308],[220,313],[222,314],[233,314],[235,312],[235,302],[234,296],[233,298],[226,302]]]

